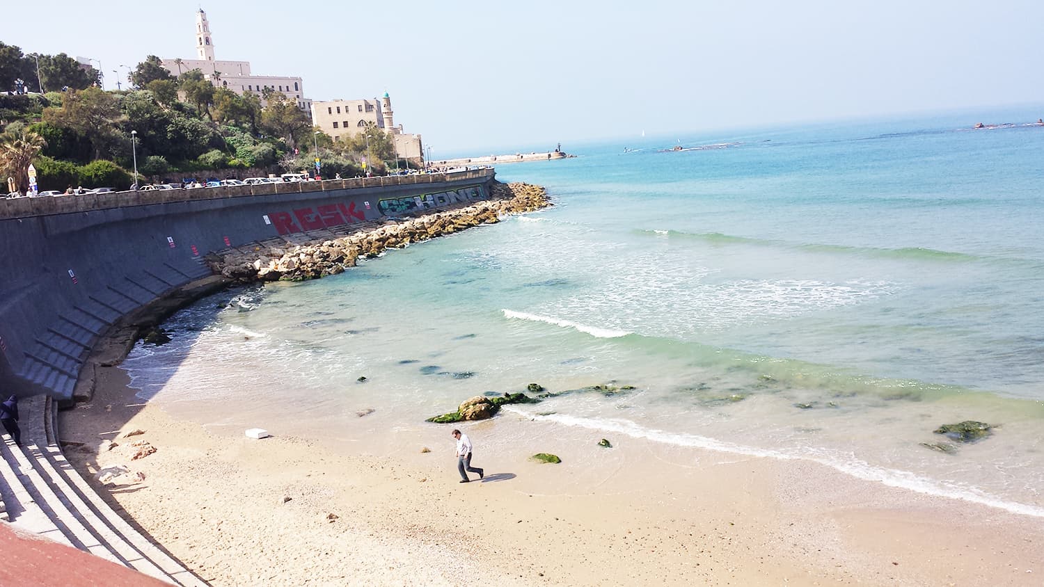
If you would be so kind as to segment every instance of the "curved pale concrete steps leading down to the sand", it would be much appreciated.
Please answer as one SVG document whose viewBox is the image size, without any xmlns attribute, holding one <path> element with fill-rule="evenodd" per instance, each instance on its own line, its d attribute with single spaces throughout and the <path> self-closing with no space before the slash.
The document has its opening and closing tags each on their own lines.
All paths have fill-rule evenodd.
<svg viewBox="0 0 1044 587">
<path fill-rule="evenodd" d="M 22 446 L 0 442 L 0 497 L 9 523 L 173 585 L 205 586 L 121 518 L 62 454 L 50 396 L 24 398 Z"/>
</svg>

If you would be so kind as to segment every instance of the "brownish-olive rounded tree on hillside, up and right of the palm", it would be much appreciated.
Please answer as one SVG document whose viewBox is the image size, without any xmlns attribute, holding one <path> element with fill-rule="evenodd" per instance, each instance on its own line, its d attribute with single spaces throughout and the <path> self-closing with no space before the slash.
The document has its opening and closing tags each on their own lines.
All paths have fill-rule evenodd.
<svg viewBox="0 0 1044 587">
<path fill-rule="evenodd" d="M 44 122 L 70 128 L 87 139 L 94 158 L 101 158 L 106 145 L 118 139 L 121 118 L 113 95 L 97 88 L 70 90 L 62 96 L 62 107 L 44 111 Z"/>
</svg>

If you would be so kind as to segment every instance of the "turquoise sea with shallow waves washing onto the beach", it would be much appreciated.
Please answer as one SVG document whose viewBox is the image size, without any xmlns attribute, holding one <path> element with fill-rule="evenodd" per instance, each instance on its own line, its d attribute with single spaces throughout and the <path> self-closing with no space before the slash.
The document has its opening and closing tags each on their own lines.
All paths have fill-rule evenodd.
<svg viewBox="0 0 1044 587">
<path fill-rule="evenodd" d="M 267 412 L 348 440 L 530 382 L 616 382 L 636 389 L 504 421 L 806 459 L 1044 517 L 1044 127 L 1022 125 L 1039 116 L 567 145 L 579 156 L 497 170 L 554 207 L 200 301 L 124 366 L 208 423 Z M 969 419 L 997 427 L 922 445 Z"/>
</svg>

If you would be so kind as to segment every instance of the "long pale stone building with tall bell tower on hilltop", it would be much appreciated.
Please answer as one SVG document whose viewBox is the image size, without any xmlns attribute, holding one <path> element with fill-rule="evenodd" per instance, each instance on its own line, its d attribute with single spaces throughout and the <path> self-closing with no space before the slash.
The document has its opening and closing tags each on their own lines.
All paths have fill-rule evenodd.
<svg viewBox="0 0 1044 587">
<path fill-rule="evenodd" d="M 163 67 L 172 75 L 181 75 L 197 69 L 217 88 L 228 88 L 236 94 L 252 93 L 260 97 L 265 88 L 282 92 L 298 107 L 311 111 L 311 100 L 305 97 L 304 83 L 300 77 L 281 75 L 254 75 L 250 62 L 219 60 L 214 57 L 214 38 L 207 21 L 207 13 L 199 8 L 196 13 L 194 31 L 196 58 L 163 59 Z"/>
</svg>

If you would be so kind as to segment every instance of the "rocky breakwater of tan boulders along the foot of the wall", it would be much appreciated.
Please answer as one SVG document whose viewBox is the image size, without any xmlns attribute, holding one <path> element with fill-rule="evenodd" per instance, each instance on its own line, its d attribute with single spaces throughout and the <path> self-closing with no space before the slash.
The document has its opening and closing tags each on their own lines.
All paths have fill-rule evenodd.
<svg viewBox="0 0 1044 587">
<path fill-rule="evenodd" d="M 380 226 L 369 226 L 337 239 L 304 245 L 255 246 L 208 256 L 215 273 L 239 282 L 302 282 L 341 273 L 358 258 L 377 256 L 389 248 L 451 235 L 501 218 L 551 205 L 544 188 L 530 184 L 494 182 L 491 198 L 465 207 L 434 212 Z"/>
</svg>

